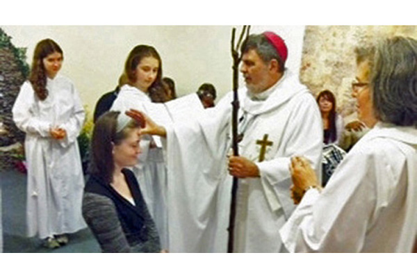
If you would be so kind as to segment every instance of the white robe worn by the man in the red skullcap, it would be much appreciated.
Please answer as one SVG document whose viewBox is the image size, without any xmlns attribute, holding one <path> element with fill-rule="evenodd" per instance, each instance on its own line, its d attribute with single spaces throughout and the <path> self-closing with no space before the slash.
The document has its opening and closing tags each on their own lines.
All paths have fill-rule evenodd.
<svg viewBox="0 0 417 278">
<path fill-rule="evenodd" d="M 266 101 L 239 91 L 240 115 L 252 117 L 240 155 L 257 163 L 261 177 L 240 179 L 235 252 L 279 252 L 279 228 L 293 211 L 288 165 L 309 158 L 320 176 L 322 121 L 316 101 L 297 76 L 286 72 Z M 226 252 L 231 197 L 227 172 L 231 99 L 227 94 L 188 122 L 167 127 L 168 207 L 172 252 Z M 258 163 L 256 140 L 273 142 Z"/>
</svg>

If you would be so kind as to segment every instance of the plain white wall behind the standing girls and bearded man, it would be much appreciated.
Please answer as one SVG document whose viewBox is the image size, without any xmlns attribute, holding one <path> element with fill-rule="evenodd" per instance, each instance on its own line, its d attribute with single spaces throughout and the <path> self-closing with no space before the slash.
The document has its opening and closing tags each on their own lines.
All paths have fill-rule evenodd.
<svg viewBox="0 0 417 278">
<path fill-rule="evenodd" d="M 1 26 L 15 47 L 27 47 L 31 64 L 35 44 L 51 38 L 64 51 L 62 74 L 80 91 L 90 115 L 97 99 L 117 85 L 124 61 L 137 44 L 154 46 L 163 75 L 174 79 L 177 94 L 213 83 L 221 97 L 231 90 L 230 40 L 233 26 Z M 237 34 L 240 26 L 236 26 Z M 288 67 L 298 72 L 304 26 L 252 26 L 251 33 L 275 31 L 288 45 Z M 244 85 L 240 80 L 240 85 Z"/>
</svg>

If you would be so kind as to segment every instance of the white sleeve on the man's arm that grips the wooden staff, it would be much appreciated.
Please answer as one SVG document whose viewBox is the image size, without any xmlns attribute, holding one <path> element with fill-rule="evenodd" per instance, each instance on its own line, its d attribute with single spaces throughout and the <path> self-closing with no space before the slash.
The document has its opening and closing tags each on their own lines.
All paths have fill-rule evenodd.
<svg viewBox="0 0 417 278">
<path fill-rule="evenodd" d="M 290 114 L 281 142 L 284 153 L 277 152 L 274 159 L 256 163 L 263 188 L 274 188 L 281 207 L 288 219 L 295 206 L 290 197 L 292 184 L 289 165 L 291 157 L 305 156 L 321 177 L 322 126 L 320 112 L 311 95 L 303 95 Z M 272 207 L 272 209 L 274 209 Z"/>
</svg>

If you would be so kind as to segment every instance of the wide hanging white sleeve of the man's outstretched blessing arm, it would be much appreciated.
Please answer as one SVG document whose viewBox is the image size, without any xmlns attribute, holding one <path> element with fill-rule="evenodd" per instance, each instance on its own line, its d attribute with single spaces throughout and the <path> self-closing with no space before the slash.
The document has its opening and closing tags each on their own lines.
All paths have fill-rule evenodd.
<svg viewBox="0 0 417 278">
<path fill-rule="evenodd" d="M 215 216 L 218 207 L 223 208 L 216 198 L 227 174 L 224 139 L 229 117 L 217 108 L 213 108 L 217 113 L 206 111 L 196 111 L 199 116 L 186 122 L 165 126 L 172 252 L 216 250 Z"/>
</svg>

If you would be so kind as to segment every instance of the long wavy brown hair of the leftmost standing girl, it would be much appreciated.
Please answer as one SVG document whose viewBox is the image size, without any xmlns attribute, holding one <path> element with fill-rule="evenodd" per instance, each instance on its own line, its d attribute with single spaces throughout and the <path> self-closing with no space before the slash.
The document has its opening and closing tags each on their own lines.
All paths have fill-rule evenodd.
<svg viewBox="0 0 417 278">
<path fill-rule="evenodd" d="M 64 57 L 63 50 L 51 39 L 45 39 L 38 42 L 35 51 L 33 52 L 29 81 L 35 91 L 35 95 L 37 95 L 40 100 L 44 100 L 48 97 L 47 72 L 43 64 L 43 59 L 54 52 L 58 52 Z"/>
</svg>

